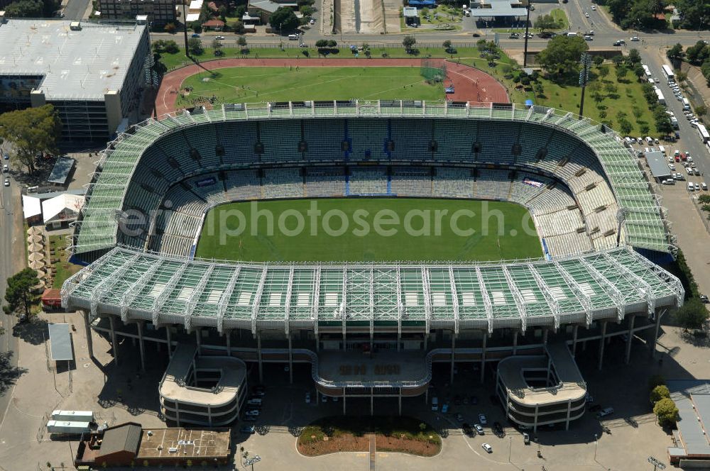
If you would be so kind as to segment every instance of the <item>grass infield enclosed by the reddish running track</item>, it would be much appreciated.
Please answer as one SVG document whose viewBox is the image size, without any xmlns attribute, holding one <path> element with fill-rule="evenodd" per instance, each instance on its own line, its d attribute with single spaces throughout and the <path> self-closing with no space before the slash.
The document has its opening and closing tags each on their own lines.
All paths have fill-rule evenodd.
<svg viewBox="0 0 710 471">
<path fill-rule="evenodd" d="M 182 82 L 193 99 L 217 103 L 293 100 L 444 99 L 441 83 L 427 84 L 420 67 L 228 67 L 200 72 Z"/>
</svg>

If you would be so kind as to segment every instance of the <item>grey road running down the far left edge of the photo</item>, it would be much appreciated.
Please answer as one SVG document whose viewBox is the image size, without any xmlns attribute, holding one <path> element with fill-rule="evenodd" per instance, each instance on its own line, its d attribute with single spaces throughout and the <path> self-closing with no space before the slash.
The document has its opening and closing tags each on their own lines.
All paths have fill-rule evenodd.
<svg viewBox="0 0 710 471">
<path fill-rule="evenodd" d="M 2 160 L 7 163 L 8 160 Z M 3 180 L 6 174 L 3 174 Z M 13 275 L 17 270 L 17 254 L 24 254 L 23 240 L 17 240 L 18 235 L 13 233 L 17 227 L 16 218 L 21 214 L 19 204 L 19 192 L 14 186 L 0 187 L 0 306 L 5 304 L 5 289 L 7 287 L 7 277 Z M 18 365 L 17 338 L 12 335 L 15 317 L 6 316 L 0 313 L 0 323 L 4 329 L 0 333 L 0 353 L 13 352 L 11 366 Z M 12 388 L 4 394 L 0 394 L 0 423 L 5 417 L 5 411 L 12 397 Z"/>
</svg>

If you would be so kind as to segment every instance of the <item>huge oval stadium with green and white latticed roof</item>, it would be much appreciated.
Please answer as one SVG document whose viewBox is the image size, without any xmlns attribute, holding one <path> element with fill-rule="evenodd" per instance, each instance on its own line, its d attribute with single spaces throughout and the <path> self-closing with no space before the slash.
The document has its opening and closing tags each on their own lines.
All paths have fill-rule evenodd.
<svg viewBox="0 0 710 471">
<path fill-rule="evenodd" d="M 525 209 L 536 235 L 515 238 L 506 223 L 486 236 L 499 253 L 481 243 L 438 257 L 395 238 L 391 250 L 408 245 L 402 260 L 322 257 L 328 239 L 245 252 L 271 243 L 258 234 L 202 247 L 222 205 L 359 199 L 395 213 L 413 199 L 495 201 Z M 109 143 L 72 235 L 86 266 L 62 304 L 110 336 L 116 360 L 119 336 L 137 340 L 143 366 L 146 341 L 168 345 L 160 400 L 178 423 L 233 422 L 247 363 L 259 382 L 265 363 L 290 375 L 310 365 L 317 392 L 341 397 L 344 413 L 358 401 L 373 412 L 396 400 L 401 411 L 427 397 L 432 363 L 444 363 L 451 381 L 456 365 L 479 368 L 481 382 L 493 371 L 511 421 L 569 426 L 586 396 L 577 345 L 599 345 L 601 368 L 605 340 L 628 334 L 628 361 L 633 336 L 683 302 L 682 284 L 655 263 L 675 250 L 664 214 L 618 135 L 573 113 L 440 101 L 197 107 Z"/>
</svg>

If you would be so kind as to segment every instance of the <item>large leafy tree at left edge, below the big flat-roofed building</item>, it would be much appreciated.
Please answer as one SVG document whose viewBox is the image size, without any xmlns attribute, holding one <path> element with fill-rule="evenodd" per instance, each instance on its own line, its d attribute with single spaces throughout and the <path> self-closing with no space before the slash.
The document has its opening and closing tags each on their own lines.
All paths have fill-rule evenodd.
<svg viewBox="0 0 710 471">
<path fill-rule="evenodd" d="M 13 160 L 30 173 L 35 171 L 36 155 L 59 152 L 61 133 L 62 121 L 52 105 L 0 114 L 0 138 L 13 144 Z"/>
</svg>

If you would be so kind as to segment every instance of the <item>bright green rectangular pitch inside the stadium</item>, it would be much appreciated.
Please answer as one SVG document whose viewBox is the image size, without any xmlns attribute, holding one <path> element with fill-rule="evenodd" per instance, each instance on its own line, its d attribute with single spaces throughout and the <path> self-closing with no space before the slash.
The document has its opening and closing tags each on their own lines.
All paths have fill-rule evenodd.
<svg viewBox="0 0 710 471">
<path fill-rule="evenodd" d="M 542 256 L 528 210 L 500 201 L 299 199 L 225 204 L 196 257 L 254 262 L 483 261 Z"/>
</svg>

